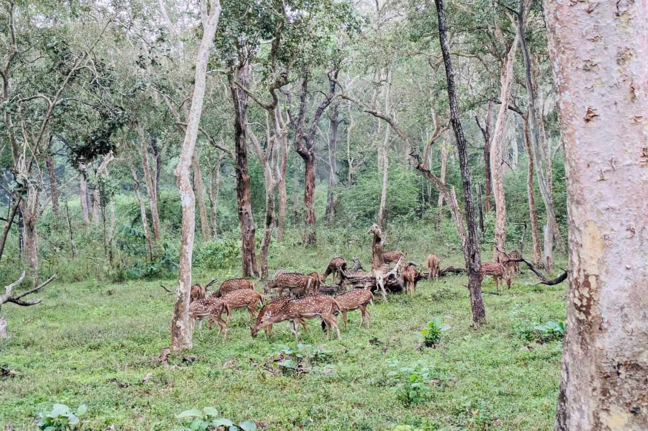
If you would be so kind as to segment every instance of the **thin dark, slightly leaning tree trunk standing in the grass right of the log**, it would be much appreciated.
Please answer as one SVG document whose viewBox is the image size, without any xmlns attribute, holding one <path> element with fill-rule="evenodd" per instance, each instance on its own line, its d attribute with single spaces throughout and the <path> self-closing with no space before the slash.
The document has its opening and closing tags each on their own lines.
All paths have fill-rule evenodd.
<svg viewBox="0 0 648 431">
<path fill-rule="evenodd" d="M 459 166 L 461 167 L 461 182 L 463 184 L 463 195 L 465 198 L 466 221 L 468 225 L 467 242 L 463 247 L 463 253 L 468 270 L 468 290 L 470 292 L 470 308 L 472 309 L 472 324 L 480 327 L 486 322 L 486 311 L 481 298 L 480 281 L 480 245 L 477 236 L 477 225 L 475 223 L 475 209 L 472 204 L 472 185 L 470 184 L 470 166 L 468 160 L 468 144 L 463 135 L 461 121 L 459 120 L 459 105 L 457 94 L 454 88 L 454 71 L 450 62 L 450 50 L 448 49 L 448 36 L 446 35 L 445 11 L 443 0 L 435 0 L 437 16 L 439 17 L 439 43 L 443 54 L 443 63 L 446 69 L 448 81 L 448 100 L 450 102 L 450 122 L 457 140 L 457 152 L 459 153 Z"/>
</svg>

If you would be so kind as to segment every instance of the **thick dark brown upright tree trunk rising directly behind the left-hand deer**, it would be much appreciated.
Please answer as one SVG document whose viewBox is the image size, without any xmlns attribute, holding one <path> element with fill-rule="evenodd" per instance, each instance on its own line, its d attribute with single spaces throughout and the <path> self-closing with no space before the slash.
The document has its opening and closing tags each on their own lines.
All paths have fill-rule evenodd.
<svg viewBox="0 0 648 431">
<path fill-rule="evenodd" d="M 238 221 L 241 232 L 242 274 L 244 277 L 258 277 L 257 252 L 255 245 L 255 227 L 252 218 L 252 204 L 249 189 L 248 147 L 246 127 L 248 126 L 248 94 L 238 87 L 236 81 L 244 88 L 249 86 L 249 63 L 239 63 L 234 76 L 230 76 L 229 89 L 234 102 L 234 142 L 236 155 L 236 188 Z"/>
</svg>

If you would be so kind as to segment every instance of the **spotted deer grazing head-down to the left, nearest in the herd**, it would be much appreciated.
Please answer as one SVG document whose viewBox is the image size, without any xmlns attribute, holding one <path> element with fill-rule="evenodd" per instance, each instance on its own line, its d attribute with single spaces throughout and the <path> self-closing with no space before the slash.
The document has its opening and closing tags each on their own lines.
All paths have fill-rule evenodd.
<svg viewBox="0 0 648 431">
<path fill-rule="evenodd" d="M 333 316 L 333 313 L 335 312 L 340 313 L 340 305 L 338 305 L 332 296 L 311 295 L 290 300 L 278 311 L 266 311 L 260 315 L 260 320 L 258 320 L 257 324 L 255 324 L 251 329 L 252 337 L 256 337 L 260 329 L 263 329 L 270 324 L 283 322 L 284 320 L 292 320 L 295 338 L 299 338 L 299 326 L 297 325 L 299 319 L 312 319 L 319 317 L 327 326 L 327 340 L 330 340 L 331 327 L 334 327 L 336 333 L 338 333 L 339 339 L 341 338 L 340 328 L 338 327 L 338 322 Z"/>
</svg>

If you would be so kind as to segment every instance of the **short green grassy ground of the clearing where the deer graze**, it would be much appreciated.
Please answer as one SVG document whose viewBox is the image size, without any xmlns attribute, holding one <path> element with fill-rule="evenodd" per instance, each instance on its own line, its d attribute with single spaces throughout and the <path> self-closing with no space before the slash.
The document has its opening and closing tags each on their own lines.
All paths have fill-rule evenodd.
<svg viewBox="0 0 648 431">
<path fill-rule="evenodd" d="M 423 252 L 413 254 L 422 261 Z M 308 258 L 323 271 L 331 255 L 296 249 L 288 256 L 273 265 L 306 270 L 299 262 Z M 460 256 L 442 262 L 450 264 L 461 266 Z M 3 307 L 11 337 L 0 342 L 0 364 L 22 376 L 0 377 L 0 428 L 33 429 L 35 415 L 55 402 L 87 404 L 86 428 L 93 430 L 168 430 L 178 425 L 175 414 L 203 406 L 270 430 L 551 428 L 561 342 L 524 341 L 511 324 L 564 319 L 566 285 L 534 287 L 526 271 L 510 291 L 484 295 L 488 324 L 474 331 L 465 283 L 463 276 L 448 276 L 419 283 L 415 296 L 376 300 L 371 328 L 358 329 L 360 316 L 351 313 L 341 340 L 327 341 L 319 322 L 310 320 L 303 357 L 293 358 L 297 371 L 275 362 L 283 349 L 297 347 L 288 324 L 275 326 L 270 340 L 253 340 L 244 311 L 235 314 L 227 342 L 205 327 L 187 352 L 194 362 L 173 357 L 172 366 L 160 366 L 174 298 L 159 281 L 55 283 L 40 305 Z M 490 279 L 483 289 L 494 291 Z M 419 348 L 421 329 L 434 316 L 450 330 L 436 348 Z M 409 374 L 389 373 L 417 363 L 430 369 L 430 393 L 409 404 L 398 387 Z M 149 372 L 152 378 L 141 384 Z"/>
</svg>

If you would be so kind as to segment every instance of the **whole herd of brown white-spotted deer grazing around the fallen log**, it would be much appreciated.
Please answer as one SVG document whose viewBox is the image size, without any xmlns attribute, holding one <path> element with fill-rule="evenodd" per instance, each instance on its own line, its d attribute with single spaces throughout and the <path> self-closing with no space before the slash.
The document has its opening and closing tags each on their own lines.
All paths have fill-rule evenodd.
<svg viewBox="0 0 648 431">
<path fill-rule="evenodd" d="M 397 262 L 404 258 L 400 251 L 385 252 L 382 254 L 386 263 Z M 520 252 L 514 250 L 505 255 L 508 259 L 518 259 L 521 257 Z M 504 260 L 502 260 L 504 261 Z M 251 335 L 253 338 L 261 329 L 264 329 L 266 337 L 272 332 L 272 325 L 289 321 L 292 323 L 292 333 L 299 338 L 299 326 L 303 326 L 304 332 L 307 333 L 305 319 L 319 317 L 322 320 L 322 326 L 326 327 L 327 339 L 330 340 L 330 331 L 333 328 L 340 338 L 340 328 L 336 316 L 341 314 L 344 320 L 345 330 L 347 329 L 347 313 L 349 311 L 359 310 L 362 320 L 360 327 L 365 324 L 369 327 L 371 315 L 367 306 L 373 305 L 373 293 L 371 290 L 351 289 L 335 296 L 321 294 L 320 286 L 332 274 L 333 281 L 336 277 L 343 278 L 354 274 L 358 269 L 362 269 L 360 262 L 354 258 L 354 267 L 349 269 L 347 261 L 340 256 L 332 258 L 329 266 L 323 274 L 311 272 L 302 274 L 300 272 L 277 271 L 275 278 L 267 283 L 264 287 L 264 294 L 272 290 L 277 291 L 277 297 L 270 302 L 264 303 L 264 295 L 255 291 L 255 285 L 252 280 L 246 278 L 234 278 L 226 280 L 220 285 L 217 291 L 207 297 L 205 287 L 200 283 L 191 287 L 191 298 L 189 304 L 189 318 L 192 322 L 199 322 L 202 327 L 202 320 L 209 318 L 209 327 L 213 327 L 214 322 L 218 324 L 218 335 L 224 333 L 227 338 L 227 324 L 231 318 L 232 312 L 239 308 L 247 307 L 250 321 L 256 318 L 254 326 L 251 326 Z M 441 261 L 434 254 L 427 258 L 428 273 L 424 274 L 416 269 L 414 263 L 408 263 L 402 272 L 404 289 L 408 294 L 416 293 L 416 284 L 419 280 L 427 275 L 428 280 L 434 278 L 437 280 L 441 272 Z M 487 275 L 491 275 L 496 288 L 503 281 L 507 282 L 511 288 L 511 274 L 519 272 L 518 262 L 500 263 L 498 261 L 489 261 L 481 263 L 481 280 Z M 287 295 L 283 295 L 288 291 Z M 257 310 L 257 304 L 260 303 L 261 309 Z M 223 313 L 226 318 L 223 319 Z"/>
</svg>

